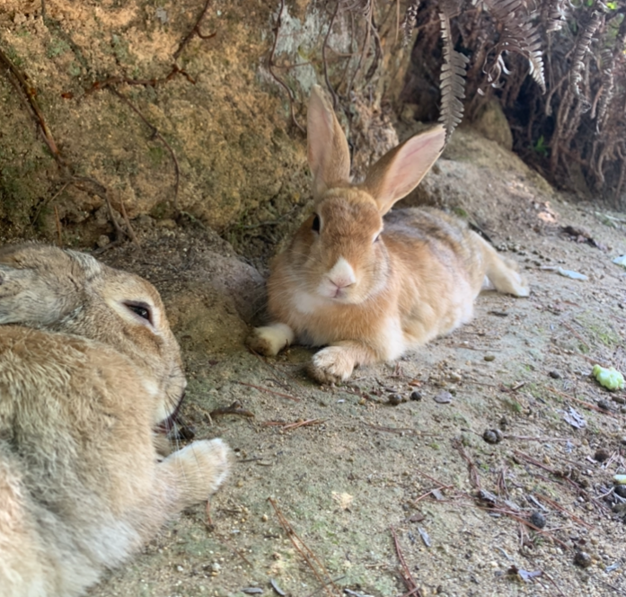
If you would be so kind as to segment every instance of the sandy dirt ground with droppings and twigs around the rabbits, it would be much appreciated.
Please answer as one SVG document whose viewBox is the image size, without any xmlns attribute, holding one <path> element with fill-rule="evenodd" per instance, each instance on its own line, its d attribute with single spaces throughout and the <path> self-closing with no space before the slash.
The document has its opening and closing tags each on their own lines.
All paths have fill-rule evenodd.
<svg viewBox="0 0 626 597">
<path fill-rule="evenodd" d="M 626 393 L 590 378 L 596 362 L 626 370 L 611 263 L 626 216 L 560 197 L 463 130 L 420 192 L 515 258 L 531 297 L 485 292 L 471 325 L 335 388 L 306 378 L 311 350 L 246 351 L 262 278 L 216 235 L 143 218 L 141 251 L 101 255 L 162 292 L 187 431 L 235 461 L 210 519 L 184 512 L 92 597 L 626 594 Z M 253 416 L 210 415 L 234 401 Z"/>
</svg>

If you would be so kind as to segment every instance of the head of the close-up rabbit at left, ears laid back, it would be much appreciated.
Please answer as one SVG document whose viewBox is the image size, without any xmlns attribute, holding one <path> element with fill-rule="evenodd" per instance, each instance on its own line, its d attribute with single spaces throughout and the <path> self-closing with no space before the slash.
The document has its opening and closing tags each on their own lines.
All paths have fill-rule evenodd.
<svg viewBox="0 0 626 597">
<path fill-rule="evenodd" d="M 35 244 L 0 249 L 0 324 L 75 334 L 125 354 L 158 386 L 155 424 L 181 403 L 180 350 L 158 292 L 91 255 Z"/>
</svg>

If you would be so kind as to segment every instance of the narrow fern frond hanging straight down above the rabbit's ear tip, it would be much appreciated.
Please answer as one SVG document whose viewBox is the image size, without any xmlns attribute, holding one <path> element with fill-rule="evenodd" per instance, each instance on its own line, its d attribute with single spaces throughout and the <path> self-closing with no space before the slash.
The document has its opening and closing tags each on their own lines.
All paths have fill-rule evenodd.
<svg viewBox="0 0 626 597">
<path fill-rule="evenodd" d="M 465 97 L 465 67 L 469 59 L 454 50 L 450 19 L 439 13 L 441 38 L 444 41 L 444 64 L 441 67 L 441 115 L 439 122 L 445 128 L 445 141 L 450 138 L 456 126 L 463 119 L 463 98 Z"/>
</svg>

